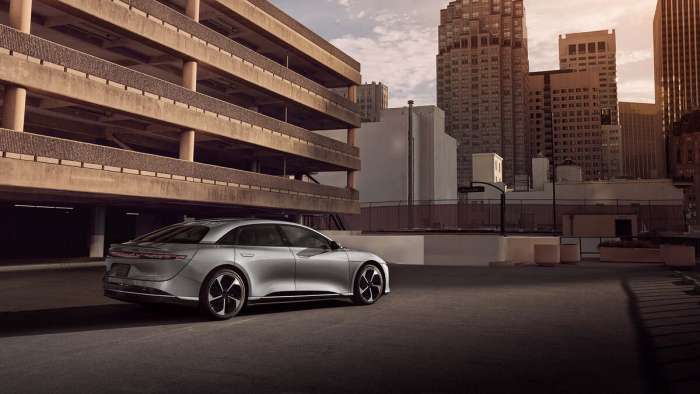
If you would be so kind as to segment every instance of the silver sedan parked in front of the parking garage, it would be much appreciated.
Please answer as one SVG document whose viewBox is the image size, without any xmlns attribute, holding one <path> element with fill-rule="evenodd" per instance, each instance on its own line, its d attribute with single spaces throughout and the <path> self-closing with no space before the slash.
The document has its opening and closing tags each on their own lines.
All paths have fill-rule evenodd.
<svg viewBox="0 0 700 394">
<path fill-rule="evenodd" d="M 389 293 L 389 267 L 298 224 L 203 220 L 112 246 L 103 283 L 110 298 L 194 305 L 221 320 L 253 304 L 373 304 Z"/>
</svg>

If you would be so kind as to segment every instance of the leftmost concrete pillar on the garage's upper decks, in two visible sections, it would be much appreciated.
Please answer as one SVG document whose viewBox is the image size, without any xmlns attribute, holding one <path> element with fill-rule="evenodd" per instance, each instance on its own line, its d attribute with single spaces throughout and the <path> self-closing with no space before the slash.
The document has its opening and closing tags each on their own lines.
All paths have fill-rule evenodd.
<svg viewBox="0 0 700 394">
<path fill-rule="evenodd" d="M 10 0 L 10 26 L 29 34 L 32 25 L 32 0 Z M 27 90 L 20 86 L 5 87 L 2 111 L 2 127 L 24 131 L 24 115 L 27 107 Z"/>
</svg>

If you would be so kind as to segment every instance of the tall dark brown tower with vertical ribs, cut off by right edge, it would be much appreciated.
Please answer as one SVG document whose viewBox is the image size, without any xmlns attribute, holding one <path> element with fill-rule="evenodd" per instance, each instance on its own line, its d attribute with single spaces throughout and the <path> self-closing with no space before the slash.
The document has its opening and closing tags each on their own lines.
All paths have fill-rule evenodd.
<svg viewBox="0 0 700 394">
<path fill-rule="evenodd" d="M 665 135 L 700 108 L 700 3 L 658 0 L 654 15 L 656 104 Z"/>
</svg>

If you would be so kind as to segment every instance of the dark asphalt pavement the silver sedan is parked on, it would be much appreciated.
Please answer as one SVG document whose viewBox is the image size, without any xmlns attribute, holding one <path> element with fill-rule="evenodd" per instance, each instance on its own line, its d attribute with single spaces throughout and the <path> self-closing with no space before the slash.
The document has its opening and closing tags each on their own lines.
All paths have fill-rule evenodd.
<svg viewBox="0 0 700 394">
<path fill-rule="evenodd" d="M 700 332 L 698 296 L 681 294 L 683 329 L 642 308 L 688 290 L 658 266 L 391 273 L 372 306 L 261 306 L 226 322 L 106 299 L 99 269 L 0 273 L 0 392 L 663 392 L 649 327 Z"/>
</svg>

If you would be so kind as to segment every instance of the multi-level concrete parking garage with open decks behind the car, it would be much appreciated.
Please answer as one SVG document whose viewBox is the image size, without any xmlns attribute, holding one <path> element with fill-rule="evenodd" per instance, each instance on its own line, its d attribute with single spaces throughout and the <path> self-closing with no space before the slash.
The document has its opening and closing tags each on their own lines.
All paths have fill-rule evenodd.
<svg viewBox="0 0 700 394">
<path fill-rule="evenodd" d="M 101 257 L 183 216 L 358 214 L 361 80 L 266 0 L 0 0 L 0 256 Z M 303 181 L 322 171 L 345 184 Z"/>
</svg>

